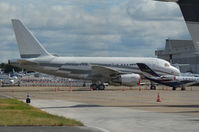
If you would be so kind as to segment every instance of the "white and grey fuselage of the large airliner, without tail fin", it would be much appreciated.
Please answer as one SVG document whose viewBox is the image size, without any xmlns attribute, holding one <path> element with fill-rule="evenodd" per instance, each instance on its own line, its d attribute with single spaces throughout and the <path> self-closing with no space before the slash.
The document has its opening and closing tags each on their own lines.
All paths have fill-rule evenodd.
<svg viewBox="0 0 199 132">
<path fill-rule="evenodd" d="M 160 75 L 177 73 L 174 70 L 163 68 L 166 61 L 157 58 L 146 57 L 39 57 L 26 59 L 33 62 L 31 64 L 21 64 L 20 66 L 42 73 L 84 80 L 103 80 L 103 77 L 96 75 L 92 66 L 103 66 L 115 69 L 121 73 L 142 74 L 136 63 L 145 63 Z M 172 67 L 172 66 L 170 66 Z"/>
</svg>

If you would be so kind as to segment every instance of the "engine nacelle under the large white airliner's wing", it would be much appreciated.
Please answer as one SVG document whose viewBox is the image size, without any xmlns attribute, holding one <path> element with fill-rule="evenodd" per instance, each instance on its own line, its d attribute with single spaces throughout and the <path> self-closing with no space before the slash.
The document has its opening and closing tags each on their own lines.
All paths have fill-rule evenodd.
<svg viewBox="0 0 199 132">
<path fill-rule="evenodd" d="M 141 76 L 139 74 L 123 74 L 112 78 L 112 82 L 125 86 L 140 85 Z"/>
</svg>

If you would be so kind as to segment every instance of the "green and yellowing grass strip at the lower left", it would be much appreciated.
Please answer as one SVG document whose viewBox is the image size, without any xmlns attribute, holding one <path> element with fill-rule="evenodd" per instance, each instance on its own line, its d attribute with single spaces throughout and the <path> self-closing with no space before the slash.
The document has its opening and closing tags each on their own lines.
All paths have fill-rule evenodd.
<svg viewBox="0 0 199 132">
<path fill-rule="evenodd" d="M 0 126 L 83 126 L 79 121 L 51 115 L 16 99 L 0 99 Z"/>
</svg>

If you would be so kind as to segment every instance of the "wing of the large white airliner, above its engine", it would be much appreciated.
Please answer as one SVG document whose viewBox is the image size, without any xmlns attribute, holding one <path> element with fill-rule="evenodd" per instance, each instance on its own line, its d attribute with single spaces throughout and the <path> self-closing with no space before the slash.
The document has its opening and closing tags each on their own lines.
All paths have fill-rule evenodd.
<svg viewBox="0 0 199 132">
<path fill-rule="evenodd" d="M 110 67 L 96 66 L 96 65 L 91 66 L 91 67 L 94 71 L 94 74 L 102 75 L 108 78 L 113 75 L 121 74 L 121 72 L 119 72 L 118 70 L 110 68 Z"/>
</svg>

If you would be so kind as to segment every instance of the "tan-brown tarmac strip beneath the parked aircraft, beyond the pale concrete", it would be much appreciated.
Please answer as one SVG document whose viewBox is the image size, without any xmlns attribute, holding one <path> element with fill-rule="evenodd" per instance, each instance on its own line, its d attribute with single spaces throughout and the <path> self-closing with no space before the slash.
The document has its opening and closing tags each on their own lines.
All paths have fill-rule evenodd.
<svg viewBox="0 0 199 132">
<path fill-rule="evenodd" d="M 199 118 L 199 87 L 187 88 L 187 91 L 172 91 L 170 88 L 158 87 L 158 90 L 149 90 L 147 87 L 125 88 L 107 87 L 105 91 L 89 91 L 88 88 L 69 87 L 3 87 L 0 95 L 14 97 L 20 100 L 53 99 L 95 104 L 100 106 L 124 107 L 144 111 L 175 113 Z M 57 89 L 57 90 L 56 90 Z M 160 93 L 161 103 L 157 103 L 157 94 Z"/>
</svg>

